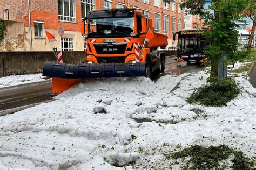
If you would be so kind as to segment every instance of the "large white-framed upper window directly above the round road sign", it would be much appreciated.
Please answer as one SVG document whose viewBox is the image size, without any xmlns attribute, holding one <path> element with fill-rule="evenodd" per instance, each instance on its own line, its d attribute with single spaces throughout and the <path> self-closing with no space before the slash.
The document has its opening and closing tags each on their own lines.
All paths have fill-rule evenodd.
<svg viewBox="0 0 256 170">
<path fill-rule="evenodd" d="M 75 0 L 58 0 L 59 20 L 75 22 Z"/>
</svg>

